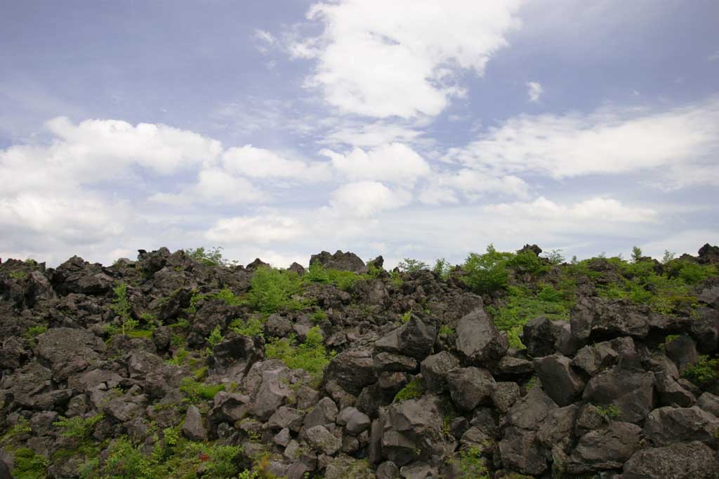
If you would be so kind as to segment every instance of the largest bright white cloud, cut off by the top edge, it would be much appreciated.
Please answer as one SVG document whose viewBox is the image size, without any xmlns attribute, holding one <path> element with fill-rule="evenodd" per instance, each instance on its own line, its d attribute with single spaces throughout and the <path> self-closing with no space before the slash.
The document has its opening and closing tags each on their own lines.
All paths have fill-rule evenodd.
<svg viewBox="0 0 719 479">
<path fill-rule="evenodd" d="M 344 113 L 365 116 L 435 116 L 462 96 L 457 69 L 482 75 L 518 27 L 521 1 L 344 0 L 318 2 L 319 37 L 292 45 L 296 57 L 314 58 L 307 84 Z"/>
</svg>

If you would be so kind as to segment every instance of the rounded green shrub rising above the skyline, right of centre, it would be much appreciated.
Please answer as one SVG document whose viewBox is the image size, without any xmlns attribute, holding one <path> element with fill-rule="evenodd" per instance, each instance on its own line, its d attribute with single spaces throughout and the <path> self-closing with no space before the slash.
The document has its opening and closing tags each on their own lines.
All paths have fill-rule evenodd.
<svg viewBox="0 0 719 479">
<path fill-rule="evenodd" d="M 485 254 L 470 253 L 462 265 L 462 281 L 472 291 L 480 294 L 491 294 L 505 289 L 509 280 L 507 262 L 512 256 L 514 255 L 511 253 L 500 253 L 493 245 L 487 246 Z"/>
</svg>

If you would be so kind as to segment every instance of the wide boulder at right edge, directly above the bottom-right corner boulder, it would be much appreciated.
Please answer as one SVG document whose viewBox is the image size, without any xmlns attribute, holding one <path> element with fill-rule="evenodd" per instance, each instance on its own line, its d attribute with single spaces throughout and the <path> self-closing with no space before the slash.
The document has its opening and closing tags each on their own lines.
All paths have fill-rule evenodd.
<svg viewBox="0 0 719 479">
<path fill-rule="evenodd" d="M 718 432 L 719 418 L 697 406 L 660 407 L 651 411 L 644 422 L 644 435 L 656 447 L 695 441 L 716 447 Z"/>
</svg>

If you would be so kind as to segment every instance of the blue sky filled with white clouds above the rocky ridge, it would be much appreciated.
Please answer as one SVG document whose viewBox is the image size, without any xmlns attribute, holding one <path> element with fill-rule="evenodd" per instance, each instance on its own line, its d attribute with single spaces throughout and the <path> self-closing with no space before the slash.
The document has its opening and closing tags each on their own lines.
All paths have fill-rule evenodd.
<svg viewBox="0 0 719 479">
<path fill-rule="evenodd" d="M 0 258 L 719 243 L 713 0 L 0 0 Z"/>
</svg>

